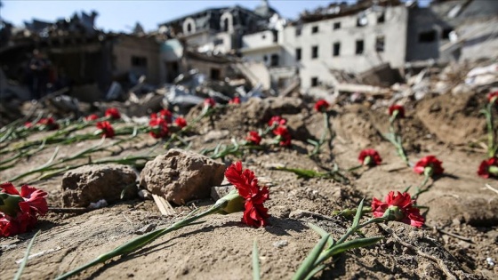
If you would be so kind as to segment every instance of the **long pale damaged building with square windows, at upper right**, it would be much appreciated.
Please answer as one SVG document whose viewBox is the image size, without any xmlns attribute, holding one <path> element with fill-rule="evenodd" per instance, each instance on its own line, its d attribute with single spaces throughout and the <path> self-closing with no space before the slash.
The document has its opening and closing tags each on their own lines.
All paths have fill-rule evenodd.
<svg viewBox="0 0 498 280">
<path fill-rule="evenodd" d="M 301 90 L 334 87 L 336 70 L 403 71 L 421 60 L 496 56 L 497 14 L 498 2 L 486 0 L 438 0 L 424 8 L 398 0 L 330 4 L 303 12 L 285 28 L 243 36 L 240 52 L 269 68 L 275 89 L 295 84 L 296 76 Z"/>
</svg>

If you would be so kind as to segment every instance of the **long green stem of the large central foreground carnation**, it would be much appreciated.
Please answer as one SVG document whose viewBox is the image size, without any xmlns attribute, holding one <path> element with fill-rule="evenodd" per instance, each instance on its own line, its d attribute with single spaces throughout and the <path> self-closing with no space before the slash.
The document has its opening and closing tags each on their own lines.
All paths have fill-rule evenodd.
<svg viewBox="0 0 498 280">
<path fill-rule="evenodd" d="M 69 276 L 74 276 L 77 273 L 84 271 L 84 269 L 91 268 L 91 267 L 93 267 L 101 262 L 105 262 L 106 260 L 110 260 L 114 257 L 123 255 L 125 253 L 137 251 L 141 247 L 155 241 L 157 238 L 159 238 L 161 236 L 165 236 L 166 234 L 168 234 L 174 230 L 193 225 L 193 224 L 195 224 L 194 222 L 196 220 L 204 218 L 205 216 L 208 216 L 208 215 L 216 213 L 216 212 L 220 212 L 225 206 L 227 206 L 229 204 L 230 200 L 236 199 L 237 197 L 238 197 L 237 193 L 230 192 L 229 195 L 224 196 L 221 199 L 219 199 L 215 204 L 213 204 L 213 206 L 211 206 L 211 208 L 209 208 L 205 212 L 199 213 L 197 215 L 189 214 L 183 220 L 175 222 L 172 226 L 170 226 L 168 228 L 160 228 L 160 229 L 152 231 L 146 235 L 138 236 L 138 237 L 128 241 L 127 243 L 116 247 L 114 250 L 112 250 L 110 252 L 101 254 L 95 260 L 92 260 L 89 263 L 84 264 L 83 266 L 81 266 L 79 268 L 71 270 L 68 273 L 57 277 L 56 280 L 67 279 Z M 196 211 L 194 211 L 194 212 L 196 212 Z"/>
</svg>

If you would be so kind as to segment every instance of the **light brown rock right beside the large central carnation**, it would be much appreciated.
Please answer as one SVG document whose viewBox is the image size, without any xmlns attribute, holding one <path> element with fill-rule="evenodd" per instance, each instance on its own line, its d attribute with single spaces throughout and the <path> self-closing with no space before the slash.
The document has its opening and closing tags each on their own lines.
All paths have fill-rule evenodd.
<svg viewBox="0 0 498 280">
<path fill-rule="evenodd" d="M 197 153 L 170 149 L 145 164 L 140 184 L 174 204 L 208 198 L 211 187 L 223 180 L 225 165 Z"/>
</svg>

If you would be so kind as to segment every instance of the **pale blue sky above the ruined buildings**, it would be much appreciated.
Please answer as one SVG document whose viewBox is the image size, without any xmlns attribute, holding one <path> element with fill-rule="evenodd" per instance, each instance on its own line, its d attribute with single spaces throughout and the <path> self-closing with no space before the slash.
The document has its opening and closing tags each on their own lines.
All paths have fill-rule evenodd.
<svg viewBox="0 0 498 280">
<path fill-rule="evenodd" d="M 136 22 L 146 31 L 157 29 L 159 23 L 174 20 L 206 8 L 240 5 L 253 10 L 261 0 L 0 0 L 0 17 L 15 26 L 31 19 L 55 21 L 68 18 L 75 12 L 92 10 L 99 13 L 95 21 L 97 28 L 105 31 L 130 32 Z M 430 0 L 420 0 L 427 4 Z M 313 10 L 318 6 L 337 2 L 336 0 L 269 0 L 270 6 L 288 19 L 296 19 L 300 12 Z M 356 0 L 339 2 L 355 3 Z"/>
</svg>

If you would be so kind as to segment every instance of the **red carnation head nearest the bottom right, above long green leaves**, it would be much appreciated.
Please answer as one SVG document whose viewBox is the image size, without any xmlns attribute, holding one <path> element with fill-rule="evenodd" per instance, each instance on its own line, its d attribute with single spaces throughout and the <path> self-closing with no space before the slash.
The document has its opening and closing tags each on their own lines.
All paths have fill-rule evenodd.
<svg viewBox="0 0 498 280">
<path fill-rule="evenodd" d="M 386 196 L 386 202 L 382 202 L 374 197 L 372 201 L 372 211 L 375 218 L 386 218 L 387 220 L 398 220 L 408 225 L 420 228 L 424 219 L 420 214 L 420 209 L 414 207 L 414 200 L 408 193 L 394 194 L 394 191 Z"/>
</svg>

